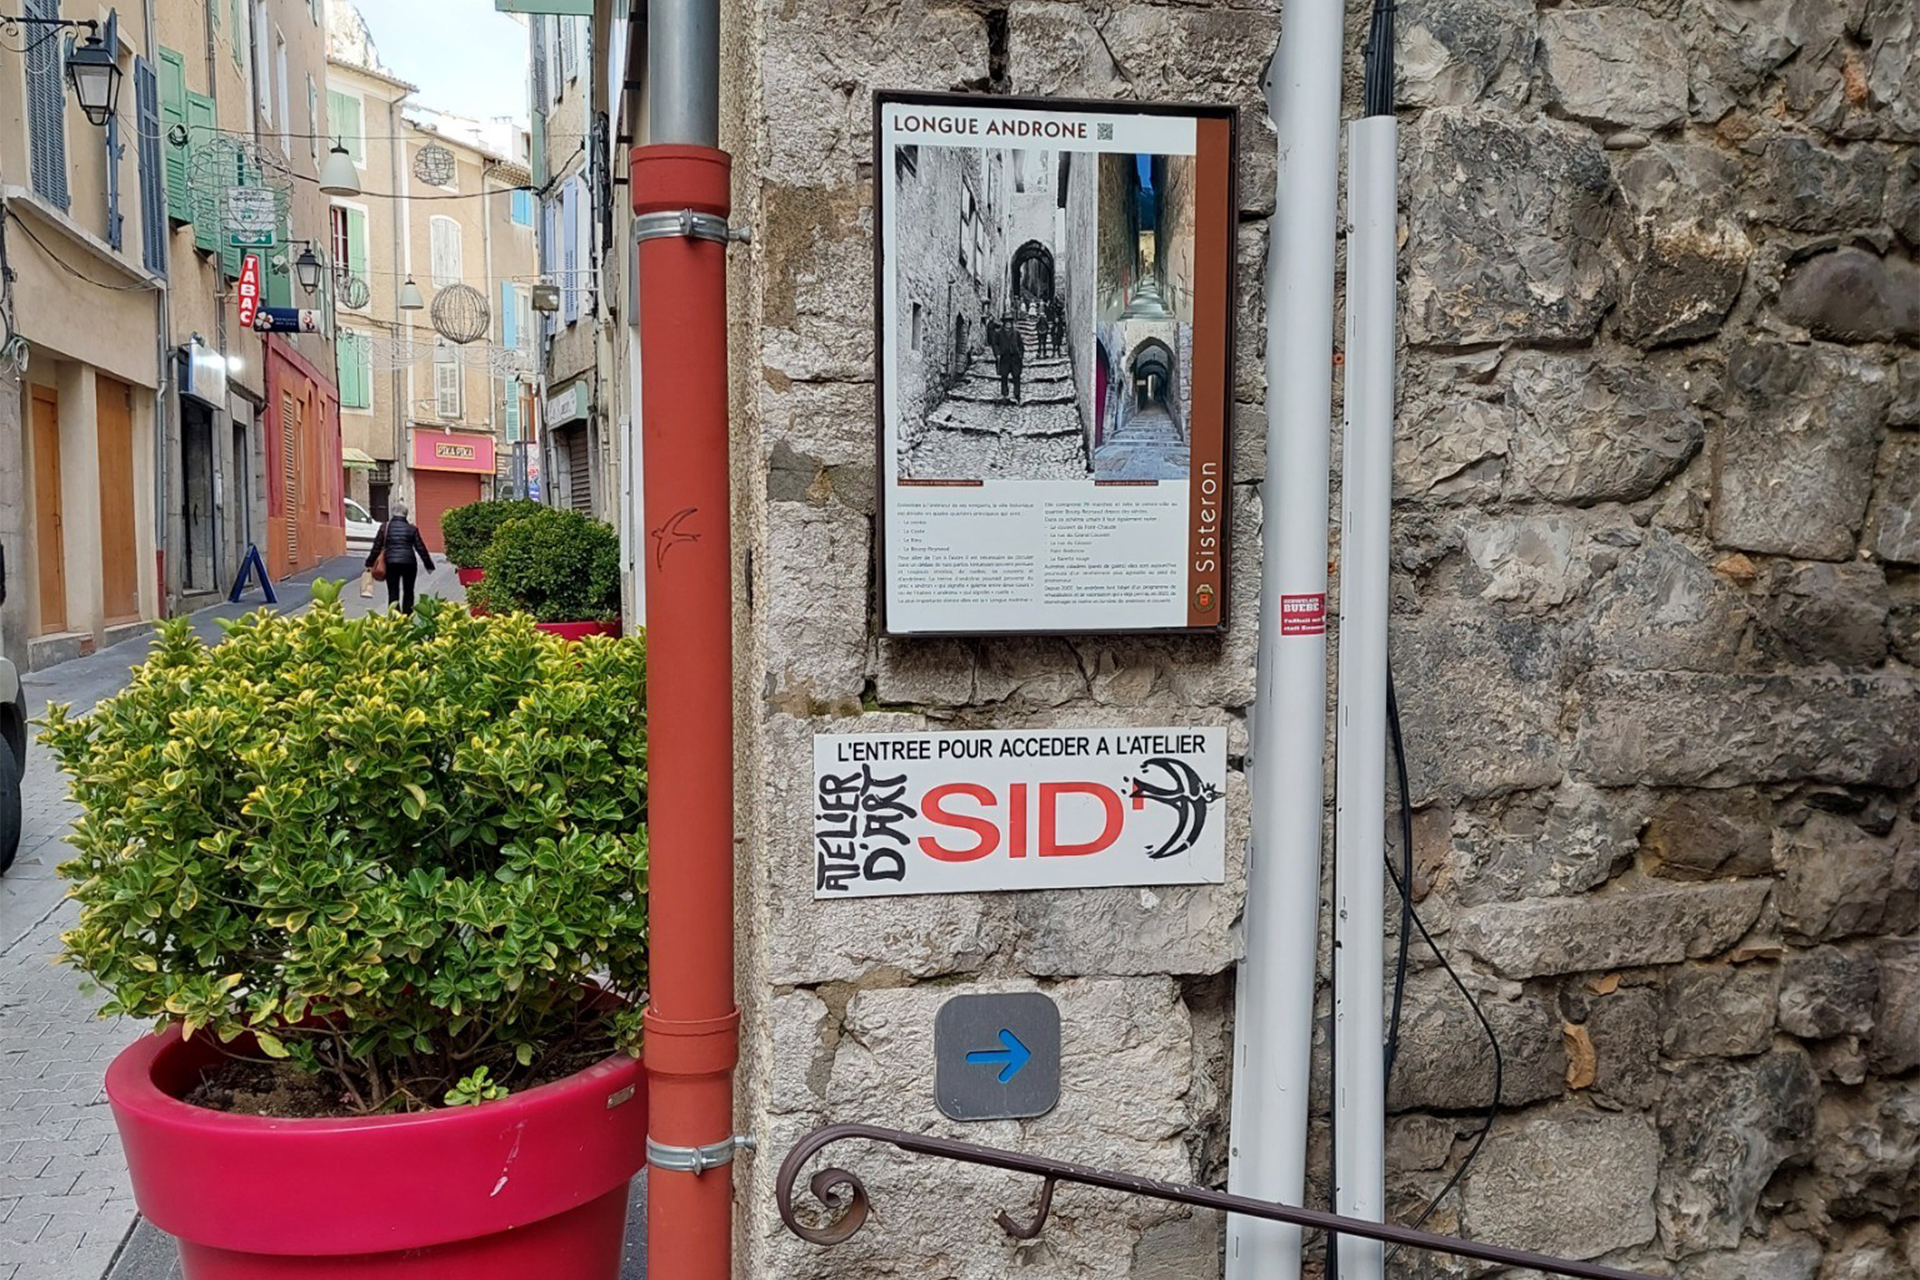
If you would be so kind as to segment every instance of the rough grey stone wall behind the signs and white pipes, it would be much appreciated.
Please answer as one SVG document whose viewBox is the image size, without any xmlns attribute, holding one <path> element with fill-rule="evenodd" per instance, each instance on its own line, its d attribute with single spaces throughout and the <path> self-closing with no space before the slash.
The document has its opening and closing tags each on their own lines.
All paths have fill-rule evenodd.
<svg viewBox="0 0 1920 1280">
<path fill-rule="evenodd" d="M 762 0 L 728 23 L 756 230 L 732 280 L 741 1115 L 762 1142 L 739 1274 L 1217 1274 L 1217 1222 L 1150 1203 L 1066 1192 L 1018 1245 L 991 1215 L 1025 1211 L 1021 1180 L 849 1150 L 876 1219 L 822 1251 L 783 1232 L 772 1184 L 828 1119 L 1225 1176 L 1236 858 L 1221 889 L 822 908 L 806 791 L 818 731 L 1221 723 L 1244 752 L 1279 0 Z M 1912 1280 L 1910 0 L 1405 0 L 1402 36 L 1392 651 L 1415 887 L 1505 1057 L 1500 1121 L 1430 1226 L 1697 1280 Z M 874 88 L 1242 107 L 1223 641 L 876 637 Z M 1231 806 L 1244 823 L 1238 771 Z M 1457 1169 L 1492 1082 L 1476 1019 L 1413 958 L 1402 1215 Z M 933 1009 L 1031 986 L 1062 1007 L 1062 1107 L 939 1119 Z"/>
</svg>

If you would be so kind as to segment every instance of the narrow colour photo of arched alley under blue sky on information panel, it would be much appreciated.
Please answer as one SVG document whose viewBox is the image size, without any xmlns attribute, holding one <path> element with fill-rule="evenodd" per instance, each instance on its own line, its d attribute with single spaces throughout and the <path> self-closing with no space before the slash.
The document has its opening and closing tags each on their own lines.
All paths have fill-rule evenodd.
<svg viewBox="0 0 1920 1280">
<path fill-rule="evenodd" d="M 1185 480 L 1192 445 L 1194 161 L 1100 157 L 1094 480 Z"/>
</svg>

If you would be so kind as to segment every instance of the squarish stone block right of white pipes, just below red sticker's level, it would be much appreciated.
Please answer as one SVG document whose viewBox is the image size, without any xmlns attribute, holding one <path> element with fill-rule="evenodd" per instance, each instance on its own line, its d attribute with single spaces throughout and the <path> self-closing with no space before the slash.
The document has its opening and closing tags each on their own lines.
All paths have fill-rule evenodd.
<svg viewBox="0 0 1920 1280">
<path fill-rule="evenodd" d="M 1427 612 L 1390 643 L 1415 804 L 1559 781 L 1565 643 L 1551 624 Z"/>
</svg>

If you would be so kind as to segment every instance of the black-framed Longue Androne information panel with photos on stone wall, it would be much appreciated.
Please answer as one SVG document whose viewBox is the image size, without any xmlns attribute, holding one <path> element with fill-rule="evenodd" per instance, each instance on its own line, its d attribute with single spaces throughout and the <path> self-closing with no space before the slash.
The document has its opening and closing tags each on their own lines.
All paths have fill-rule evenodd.
<svg viewBox="0 0 1920 1280">
<path fill-rule="evenodd" d="M 887 635 L 1219 631 L 1233 107 L 874 96 Z"/>
</svg>

